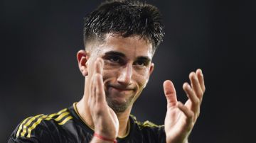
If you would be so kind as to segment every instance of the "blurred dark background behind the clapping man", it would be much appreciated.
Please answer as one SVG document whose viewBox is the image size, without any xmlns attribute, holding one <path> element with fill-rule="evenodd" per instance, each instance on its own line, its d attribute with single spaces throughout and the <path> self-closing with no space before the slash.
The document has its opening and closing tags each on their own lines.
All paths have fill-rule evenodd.
<svg viewBox="0 0 256 143">
<path fill-rule="evenodd" d="M 100 2 L 0 2 L 0 142 L 7 142 L 24 118 L 55 113 L 82 98 L 84 78 L 75 55 L 83 49 L 83 17 Z M 161 10 L 166 36 L 132 114 L 164 124 L 162 83 L 174 81 L 184 102 L 182 84 L 201 68 L 206 93 L 190 142 L 253 142 L 256 1 L 148 2 Z"/>
</svg>

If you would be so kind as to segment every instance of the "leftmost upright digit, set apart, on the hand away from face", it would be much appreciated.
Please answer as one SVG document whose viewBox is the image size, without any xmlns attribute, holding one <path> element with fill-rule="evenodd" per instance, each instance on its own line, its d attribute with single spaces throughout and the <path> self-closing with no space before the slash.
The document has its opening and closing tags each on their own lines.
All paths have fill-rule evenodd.
<svg viewBox="0 0 256 143">
<path fill-rule="evenodd" d="M 164 81 L 163 86 L 164 86 L 164 95 L 166 96 L 166 100 L 167 100 L 167 107 L 175 106 L 177 103 L 177 96 L 176 96 L 174 84 L 171 81 L 166 80 Z"/>
</svg>

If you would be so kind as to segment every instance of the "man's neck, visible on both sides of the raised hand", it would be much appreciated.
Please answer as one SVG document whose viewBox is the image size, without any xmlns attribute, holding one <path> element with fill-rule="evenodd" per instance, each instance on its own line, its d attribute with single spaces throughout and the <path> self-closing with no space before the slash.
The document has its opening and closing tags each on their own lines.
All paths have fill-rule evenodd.
<svg viewBox="0 0 256 143">
<path fill-rule="evenodd" d="M 86 95 L 86 94 L 85 94 Z M 94 130 L 94 124 L 92 121 L 92 115 L 87 105 L 87 96 L 83 96 L 83 98 L 77 103 L 78 113 L 80 117 L 85 122 L 87 126 L 89 126 L 92 130 Z M 131 109 L 127 108 L 123 113 L 117 113 L 117 118 L 119 120 L 119 131 L 118 137 L 125 137 L 129 133 L 129 115 L 131 113 Z"/>
</svg>

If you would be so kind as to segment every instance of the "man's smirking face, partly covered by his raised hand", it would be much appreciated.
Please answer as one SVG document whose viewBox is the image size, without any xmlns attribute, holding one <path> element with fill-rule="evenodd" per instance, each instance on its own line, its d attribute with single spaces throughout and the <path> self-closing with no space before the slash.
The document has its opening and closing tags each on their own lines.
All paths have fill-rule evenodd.
<svg viewBox="0 0 256 143">
<path fill-rule="evenodd" d="M 152 45 L 139 36 L 122 38 L 107 34 L 105 42 L 90 51 L 87 79 L 93 62 L 101 57 L 107 103 L 116 113 L 122 113 L 132 107 L 146 86 L 154 69 L 152 56 Z"/>
</svg>

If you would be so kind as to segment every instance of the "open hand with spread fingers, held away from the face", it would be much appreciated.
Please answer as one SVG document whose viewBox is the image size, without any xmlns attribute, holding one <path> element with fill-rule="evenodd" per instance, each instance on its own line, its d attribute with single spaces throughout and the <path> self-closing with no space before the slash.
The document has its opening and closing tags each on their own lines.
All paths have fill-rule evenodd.
<svg viewBox="0 0 256 143">
<path fill-rule="evenodd" d="M 166 142 L 186 143 L 200 113 L 203 93 L 206 91 L 201 69 L 189 74 L 191 85 L 183 84 L 188 96 L 185 104 L 177 101 L 174 84 L 164 81 L 164 94 L 167 99 L 167 113 L 164 121 Z"/>
</svg>

